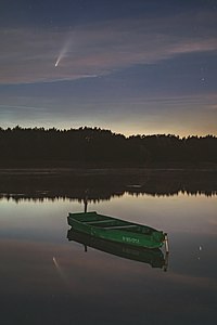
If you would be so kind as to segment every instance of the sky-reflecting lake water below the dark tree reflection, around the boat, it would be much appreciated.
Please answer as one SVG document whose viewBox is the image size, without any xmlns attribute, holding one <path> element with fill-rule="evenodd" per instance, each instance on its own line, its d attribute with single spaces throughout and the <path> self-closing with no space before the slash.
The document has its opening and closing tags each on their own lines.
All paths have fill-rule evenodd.
<svg viewBox="0 0 217 325">
<path fill-rule="evenodd" d="M 215 324 L 216 195 L 89 202 L 167 232 L 166 272 L 68 240 L 67 213 L 82 210 L 78 199 L 0 199 L 1 324 Z"/>
</svg>

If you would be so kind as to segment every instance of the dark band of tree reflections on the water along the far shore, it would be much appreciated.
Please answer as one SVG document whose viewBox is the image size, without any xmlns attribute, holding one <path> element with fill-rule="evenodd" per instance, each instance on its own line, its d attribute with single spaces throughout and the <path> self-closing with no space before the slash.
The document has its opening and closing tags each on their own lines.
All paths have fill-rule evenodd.
<svg viewBox="0 0 217 325">
<path fill-rule="evenodd" d="M 92 202 L 108 200 L 125 193 L 130 195 L 170 196 L 217 194 L 216 172 L 192 170 L 23 170 L 1 172 L 0 198 L 15 199 L 78 199 L 86 190 Z"/>
</svg>

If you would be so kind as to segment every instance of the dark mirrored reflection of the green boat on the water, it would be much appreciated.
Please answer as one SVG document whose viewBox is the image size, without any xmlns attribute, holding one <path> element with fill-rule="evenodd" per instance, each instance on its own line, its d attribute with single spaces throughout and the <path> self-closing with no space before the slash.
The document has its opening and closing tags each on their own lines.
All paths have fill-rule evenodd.
<svg viewBox="0 0 217 325">
<path fill-rule="evenodd" d="M 79 244 L 95 248 L 101 251 L 105 251 L 122 258 L 126 258 L 133 261 L 140 261 L 150 264 L 152 268 L 167 268 L 167 255 L 164 253 L 159 248 L 149 249 L 142 247 L 135 247 L 128 244 L 119 244 L 111 240 L 105 240 L 77 232 L 71 229 L 67 233 L 68 240 L 74 240 Z"/>
</svg>

